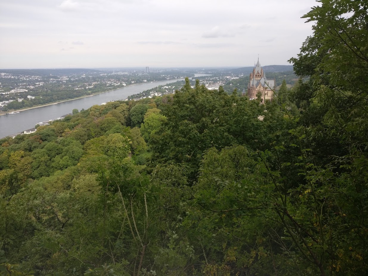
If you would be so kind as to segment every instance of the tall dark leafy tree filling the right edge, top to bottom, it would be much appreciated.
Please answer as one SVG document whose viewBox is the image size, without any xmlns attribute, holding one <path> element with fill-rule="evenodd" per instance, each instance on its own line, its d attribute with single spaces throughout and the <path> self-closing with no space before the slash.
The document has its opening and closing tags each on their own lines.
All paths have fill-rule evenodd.
<svg viewBox="0 0 368 276">
<path fill-rule="evenodd" d="M 298 57 L 290 60 L 301 78 L 293 97 L 308 101 L 292 131 L 297 147 L 304 151 L 301 174 L 308 183 L 305 194 L 310 194 L 301 199 L 318 218 L 311 243 L 321 275 L 364 274 L 368 255 L 361 245 L 367 243 L 367 236 L 351 235 L 348 229 L 367 228 L 367 222 L 358 218 L 368 204 L 367 187 L 360 184 L 368 180 L 368 3 L 321 3 L 304 16 L 315 22 L 314 33 Z"/>
</svg>

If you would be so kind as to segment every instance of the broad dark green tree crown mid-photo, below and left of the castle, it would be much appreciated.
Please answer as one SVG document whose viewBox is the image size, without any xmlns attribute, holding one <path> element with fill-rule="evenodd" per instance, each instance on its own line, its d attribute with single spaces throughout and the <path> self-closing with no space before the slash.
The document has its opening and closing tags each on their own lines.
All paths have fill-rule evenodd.
<svg viewBox="0 0 368 276">
<path fill-rule="evenodd" d="M 163 108 L 166 120 L 159 130 L 151 132 L 149 146 L 156 162 L 184 163 L 191 167 L 190 181 L 195 180 L 202 154 L 209 148 L 223 148 L 231 144 L 268 146 L 272 134 L 268 124 L 258 116 L 272 117 L 265 106 L 235 94 L 229 96 L 220 87 L 209 91 L 197 82 L 191 88 L 189 79 Z M 147 117 L 148 118 L 148 117 Z M 282 120 L 278 115 L 275 121 Z M 144 127 L 145 131 L 145 127 Z"/>
</svg>

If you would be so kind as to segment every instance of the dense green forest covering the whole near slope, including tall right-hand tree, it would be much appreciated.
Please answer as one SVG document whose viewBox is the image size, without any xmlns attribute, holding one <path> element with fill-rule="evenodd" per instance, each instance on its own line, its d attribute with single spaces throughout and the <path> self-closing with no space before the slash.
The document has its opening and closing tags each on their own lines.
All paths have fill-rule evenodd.
<svg viewBox="0 0 368 276">
<path fill-rule="evenodd" d="M 367 10 L 313 7 L 264 105 L 186 79 L 0 139 L 0 275 L 368 275 Z"/>
</svg>

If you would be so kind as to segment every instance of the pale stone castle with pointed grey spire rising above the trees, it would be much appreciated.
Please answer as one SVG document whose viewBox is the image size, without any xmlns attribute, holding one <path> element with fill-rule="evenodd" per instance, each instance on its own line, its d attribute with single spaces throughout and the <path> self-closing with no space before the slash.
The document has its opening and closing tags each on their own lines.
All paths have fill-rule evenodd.
<svg viewBox="0 0 368 276">
<path fill-rule="evenodd" d="M 263 72 L 263 68 L 259 64 L 259 58 L 253 72 L 250 73 L 249 79 L 247 96 L 250 100 L 256 99 L 257 95 L 261 96 L 261 103 L 273 99 L 272 90 L 275 89 L 275 79 L 266 78 L 266 72 Z M 243 96 L 245 96 L 245 89 L 243 90 Z"/>
</svg>

